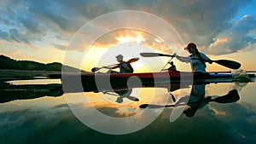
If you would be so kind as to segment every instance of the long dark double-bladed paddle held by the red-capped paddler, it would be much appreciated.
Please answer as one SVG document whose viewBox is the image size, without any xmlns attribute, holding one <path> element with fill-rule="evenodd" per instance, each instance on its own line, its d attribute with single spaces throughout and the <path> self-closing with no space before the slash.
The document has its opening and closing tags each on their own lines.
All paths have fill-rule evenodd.
<svg viewBox="0 0 256 144">
<path fill-rule="evenodd" d="M 143 57 L 155 57 L 155 56 L 168 56 L 168 57 L 174 57 L 174 55 L 165 55 L 160 53 L 141 53 Z M 193 60 L 200 60 L 200 59 L 193 59 Z M 218 65 L 229 67 L 231 69 L 238 69 L 241 67 L 241 64 L 239 62 L 236 62 L 234 60 L 211 60 L 207 62 L 215 62 Z"/>
</svg>

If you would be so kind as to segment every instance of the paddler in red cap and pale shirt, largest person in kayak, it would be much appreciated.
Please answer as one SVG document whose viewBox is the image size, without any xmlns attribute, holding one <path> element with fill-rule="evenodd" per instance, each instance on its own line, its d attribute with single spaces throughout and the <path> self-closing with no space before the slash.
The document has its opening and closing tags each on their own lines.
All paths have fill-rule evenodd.
<svg viewBox="0 0 256 144">
<path fill-rule="evenodd" d="M 206 62 L 212 64 L 212 60 L 208 58 L 207 55 L 199 52 L 196 48 L 195 43 L 189 43 L 184 49 L 187 50 L 191 55 L 183 57 L 174 54 L 177 60 L 180 60 L 182 62 L 190 62 L 193 72 L 200 72 L 202 75 L 207 77 L 208 73 L 206 71 Z"/>
</svg>

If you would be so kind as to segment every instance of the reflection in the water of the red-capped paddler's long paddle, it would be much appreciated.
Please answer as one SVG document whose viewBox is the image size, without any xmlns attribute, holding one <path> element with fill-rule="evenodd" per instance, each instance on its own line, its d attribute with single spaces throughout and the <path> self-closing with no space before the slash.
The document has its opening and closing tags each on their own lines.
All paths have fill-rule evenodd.
<svg viewBox="0 0 256 144">
<path fill-rule="evenodd" d="M 210 97 L 209 97 L 210 98 Z M 240 99 L 240 96 L 237 92 L 236 89 L 231 90 L 227 95 L 219 96 L 215 99 L 209 99 L 208 97 L 205 99 L 205 101 L 215 101 L 218 103 L 231 103 L 231 102 L 236 102 Z M 204 102 L 204 101 L 201 101 Z M 161 106 L 161 105 L 154 105 L 154 104 L 143 104 L 139 106 L 140 108 L 160 108 L 160 107 L 174 107 L 175 104 L 172 105 L 166 105 L 166 106 Z"/>
</svg>

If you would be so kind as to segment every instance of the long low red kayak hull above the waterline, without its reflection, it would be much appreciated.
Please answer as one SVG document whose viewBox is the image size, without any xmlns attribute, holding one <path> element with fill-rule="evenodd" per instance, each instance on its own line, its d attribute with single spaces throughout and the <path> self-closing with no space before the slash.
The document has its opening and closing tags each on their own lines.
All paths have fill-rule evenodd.
<svg viewBox="0 0 256 144">
<path fill-rule="evenodd" d="M 125 81 L 128 78 L 137 77 L 143 82 L 152 82 L 157 80 L 181 80 L 181 78 L 193 78 L 196 79 L 209 79 L 209 78 L 233 78 L 231 72 L 210 72 L 204 74 L 201 72 L 179 72 L 175 70 L 169 70 L 166 72 L 144 72 L 144 73 L 62 73 L 62 74 L 49 74 L 49 78 L 75 78 L 80 77 L 83 81 L 94 82 L 96 79 L 110 78 L 112 82 Z M 247 74 L 248 78 L 254 78 L 254 74 Z"/>
</svg>

